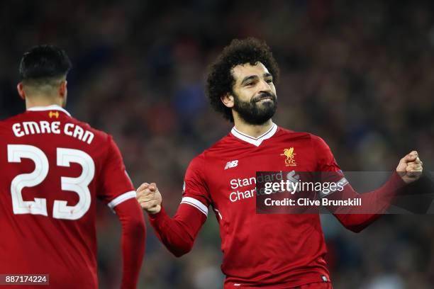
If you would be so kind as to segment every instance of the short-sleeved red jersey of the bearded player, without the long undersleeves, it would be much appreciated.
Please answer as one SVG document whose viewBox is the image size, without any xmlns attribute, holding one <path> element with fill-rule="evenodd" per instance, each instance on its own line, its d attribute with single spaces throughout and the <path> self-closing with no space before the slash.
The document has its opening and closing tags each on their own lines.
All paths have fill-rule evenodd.
<svg viewBox="0 0 434 289">
<path fill-rule="evenodd" d="M 291 149 L 288 162 L 285 149 Z M 225 287 L 288 288 L 330 280 L 318 214 L 257 214 L 257 171 L 338 171 L 320 137 L 273 125 L 261 137 L 233 130 L 196 157 L 187 169 L 182 204 L 204 215 L 208 205 L 220 225 Z M 232 287 L 228 287 L 232 288 Z"/>
</svg>

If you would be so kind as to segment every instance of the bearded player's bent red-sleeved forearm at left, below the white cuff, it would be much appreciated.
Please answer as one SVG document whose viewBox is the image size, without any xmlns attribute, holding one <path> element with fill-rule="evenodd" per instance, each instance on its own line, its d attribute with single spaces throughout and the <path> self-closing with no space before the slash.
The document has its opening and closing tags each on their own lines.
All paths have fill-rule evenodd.
<svg viewBox="0 0 434 289">
<path fill-rule="evenodd" d="M 150 224 L 158 239 L 174 256 L 187 254 L 206 220 L 206 216 L 191 205 L 181 204 L 173 218 L 162 206 L 157 214 L 149 214 Z"/>
</svg>

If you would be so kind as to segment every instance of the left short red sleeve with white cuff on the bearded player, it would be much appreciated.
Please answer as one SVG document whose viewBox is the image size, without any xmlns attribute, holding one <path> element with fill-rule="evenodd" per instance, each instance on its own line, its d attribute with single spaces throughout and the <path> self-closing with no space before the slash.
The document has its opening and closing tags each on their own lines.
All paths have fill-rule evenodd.
<svg viewBox="0 0 434 289">
<path fill-rule="evenodd" d="M 191 205 L 208 215 L 211 198 L 204 178 L 204 167 L 203 154 L 190 162 L 184 177 L 181 203 Z"/>
</svg>

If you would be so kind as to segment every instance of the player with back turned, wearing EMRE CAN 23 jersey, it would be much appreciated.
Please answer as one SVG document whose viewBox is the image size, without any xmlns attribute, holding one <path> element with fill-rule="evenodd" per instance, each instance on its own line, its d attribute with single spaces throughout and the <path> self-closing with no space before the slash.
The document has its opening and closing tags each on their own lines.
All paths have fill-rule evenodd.
<svg viewBox="0 0 434 289">
<path fill-rule="evenodd" d="M 121 288 L 135 288 L 143 212 L 113 138 L 63 108 L 70 68 L 66 53 L 50 45 L 21 59 L 17 88 L 26 112 L 0 122 L 0 274 L 48 274 L 48 288 L 98 288 L 100 198 L 122 225 Z"/>
</svg>

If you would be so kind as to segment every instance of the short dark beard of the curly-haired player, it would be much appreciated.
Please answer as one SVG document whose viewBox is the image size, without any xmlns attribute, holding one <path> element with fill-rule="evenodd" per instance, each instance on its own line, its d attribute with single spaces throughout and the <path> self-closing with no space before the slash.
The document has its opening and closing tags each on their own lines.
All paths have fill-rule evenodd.
<svg viewBox="0 0 434 289">
<path fill-rule="evenodd" d="M 233 110 L 240 115 L 245 123 L 250 125 L 263 125 L 276 113 L 277 97 L 272 92 L 262 92 L 262 94 L 252 97 L 250 101 L 240 101 L 234 92 L 233 96 Z M 271 97 L 272 101 L 260 104 L 258 101 L 265 97 Z"/>
</svg>

